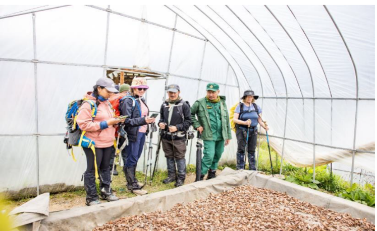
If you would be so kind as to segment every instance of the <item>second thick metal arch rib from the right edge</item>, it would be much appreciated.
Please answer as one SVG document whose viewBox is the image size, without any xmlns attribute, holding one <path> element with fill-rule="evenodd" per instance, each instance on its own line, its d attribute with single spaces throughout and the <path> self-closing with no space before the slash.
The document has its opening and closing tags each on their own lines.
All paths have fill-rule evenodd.
<svg viewBox="0 0 377 231">
<path fill-rule="evenodd" d="M 288 37 L 291 39 L 292 43 L 295 45 L 297 51 L 300 53 L 301 55 L 301 58 L 303 59 L 303 61 L 305 62 L 305 65 L 306 67 L 308 68 L 308 71 L 309 71 L 309 75 L 310 75 L 310 80 L 311 80 L 311 87 L 312 87 L 312 91 L 313 91 L 313 143 L 315 143 L 315 92 L 314 92 L 314 82 L 313 82 L 313 76 L 311 74 L 311 70 L 309 68 L 309 65 L 308 63 L 306 62 L 306 59 L 304 58 L 304 56 L 302 55 L 300 49 L 298 48 L 298 46 L 296 45 L 295 41 L 293 40 L 293 38 L 291 37 L 291 35 L 288 33 L 288 31 L 285 29 L 285 27 L 283 26 L 283 24 L 279 21 L 279 19 L 275 16 L 275 14 L 270 10 L 270 8 L 268 8 L 266 5 L 264 6 L 268 12 L 271 13 L 271 15 L 275 18 L 275 20 L 279 23 L 279 25 L 283 28 L 283 30 L 285 31 L 285 33 L 288 35 Z M 282 160 L 283 160 L 283 157 L 282 157 Z M 282 168 L 282 166 L 281 166 Z M 313 145 L 313 182 L 315 181 L 315 145 Z"/>
</svg>

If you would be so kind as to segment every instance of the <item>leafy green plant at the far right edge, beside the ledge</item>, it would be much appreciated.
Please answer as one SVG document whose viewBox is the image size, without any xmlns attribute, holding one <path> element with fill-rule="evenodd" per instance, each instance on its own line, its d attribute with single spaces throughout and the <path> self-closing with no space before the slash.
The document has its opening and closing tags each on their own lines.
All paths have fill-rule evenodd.
<svg viewBox="0 0 377 231">
<path fill-rule="evenodd" d="M 367 184 L 366 187 L 371 188 L 370 184 Z M 374 196 L 370 195 L 367 191 L 360 189 L 356 183 L 353 183 L 352 186 L 338 195 L 341 198 L 346 200 L 355 201 L 361 204 L 365 204 L 370 207 L 374 207 Z"/>
</svg>

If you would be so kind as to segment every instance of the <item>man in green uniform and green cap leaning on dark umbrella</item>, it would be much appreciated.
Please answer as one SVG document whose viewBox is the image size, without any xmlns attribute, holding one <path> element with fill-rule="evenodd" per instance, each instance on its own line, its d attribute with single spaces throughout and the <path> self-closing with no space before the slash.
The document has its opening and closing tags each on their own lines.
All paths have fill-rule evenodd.
<svg viewBox="0 0 377 231">
<path fill-rule="evenodd" d="M 232 138 L 225 96 L 219 96 L 219 93 L 219 85 L 210 83 L 207 96 L 195 101 L 191 107 L 192 126 L 200 132 L 204 142 L 201 180 L 207 172 L 207 180 L 216 177 L 224 146 Z"/>
</svg>

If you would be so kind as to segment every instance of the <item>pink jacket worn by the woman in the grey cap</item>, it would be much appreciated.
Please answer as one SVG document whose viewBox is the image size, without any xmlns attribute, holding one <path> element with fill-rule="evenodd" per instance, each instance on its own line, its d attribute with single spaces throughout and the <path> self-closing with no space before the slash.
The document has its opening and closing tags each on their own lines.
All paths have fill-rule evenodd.
<svg viewBox="0 0 377 231">
<path fill-rule="evenodd" d="M 95 97 L 88 92 L 84 97 L 93 100 Z M 100 122 L 114 118 L 114 110 L 110 107 L 109 101 L 100 102 L 97 107 L 97 115 L 92 120 L 91 106 L 89 103 L 83 103 L 79 109 L 76 122 L 80 129 L 86 131 L 85 135 L 95 142 L 95 147 L 111 147 L 114 145 L 115 127 L 109 126 L 101 130 Z"/>
</svg>

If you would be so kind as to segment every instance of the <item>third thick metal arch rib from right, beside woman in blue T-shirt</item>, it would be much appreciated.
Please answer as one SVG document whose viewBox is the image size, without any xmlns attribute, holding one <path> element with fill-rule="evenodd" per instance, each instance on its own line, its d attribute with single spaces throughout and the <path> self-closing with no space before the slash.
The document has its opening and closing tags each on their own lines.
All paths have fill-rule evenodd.
<svg viewBox="0 0 377 231">
<path fill-rule="evenodd" d="M 280 74 L 282 75 L 282 78 L 283 78 L 283 82 L 284 82 L 284 87 L 285 87 L 285 93 L 286 93 L 286 109 L 285 109 L 285 120 L 284 120 L 284 134 L 283 136 L 286 137 L 286 125 L 287 125 L 287 115 L 288 115 L 288 89 L 287 89 L 287 84 L 286 84 L 286 81 L 285 81 L 285 78 L 284 78 L 284 74 L 283 74 L 283 71 L 281 70 L 280 66 L 278 65 L 278 63 L 276 62 L 276 60 L 274 59 L 274 57 L 272 56 L 272 54 L 267 50 L 267 48 L 263 45 L 263 43 L 257 38 L 257 36 L 251 31 L 251 29 L 246 25 L 246 23 L 229 7 L 229 6 L 226 6 L 235 16 L 236 18 L 249 30 L 249 32 L 255 37 L 255 39 L 260 43 L 260 45 L 264 48 L 264 50 L 267 52 L 268 55 L 270 55 L 271 59 L 274 61 L 275 65 L 278 67 L 279 71 L 280 71 Z M 245 41 L 246 42 L 246 41 Z M 264 66 L 264 65 L 263 65 Z M 272 80 L 271 80 L 272 82 Z M 263 98 L 264 99 L 264 98 Z M 278 102 L 278 100 L 277 100 Z M 263 106 L 263 100 L 262 100 L 262 106 Z M 258 137 L 258 140 L 259 140 L 259 137 Z M 283 140 L 283 147 L 282 147 L 282 162 L 283 162 L 283 155 L 284 155 L 284 144 L 285 144 L 285 140 Z M 258 146 L 259 148 L 259 146 Z M 258 154 L 257 154 L 257 157 L 256 159 L 258 160 L 259 158 L 259 149 L 258 149 Z M 282 166 L 283 163 L 281 163 L 280 166 Z M 256 170 L 258 170 L 258 162 L 257 162 L 257 165 L 256 165 Z M 280 169 L 280 174 L 282 174 L 282 168 Z"/>
</svg>

